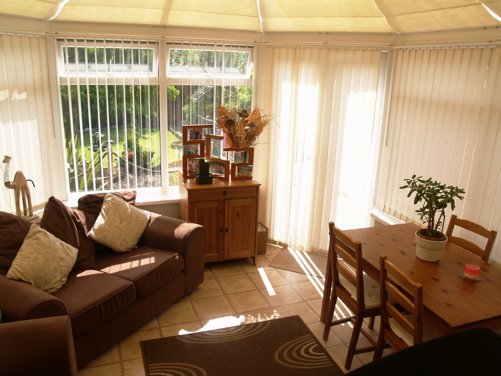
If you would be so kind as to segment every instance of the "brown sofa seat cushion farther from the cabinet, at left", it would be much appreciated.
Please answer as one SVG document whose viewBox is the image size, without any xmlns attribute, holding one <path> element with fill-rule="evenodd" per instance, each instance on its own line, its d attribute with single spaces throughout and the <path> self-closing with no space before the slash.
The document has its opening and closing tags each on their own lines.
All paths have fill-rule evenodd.
<svg viewBox="0 0 501 376">
<path fill-rule="evenodd" d="M 130 306 L 136 290 L 126 279 L 86 270 L 71 272 L 66 284 L 53 296 L 64 303 L 73 336 L 78 337 Z"/>
</svg>

